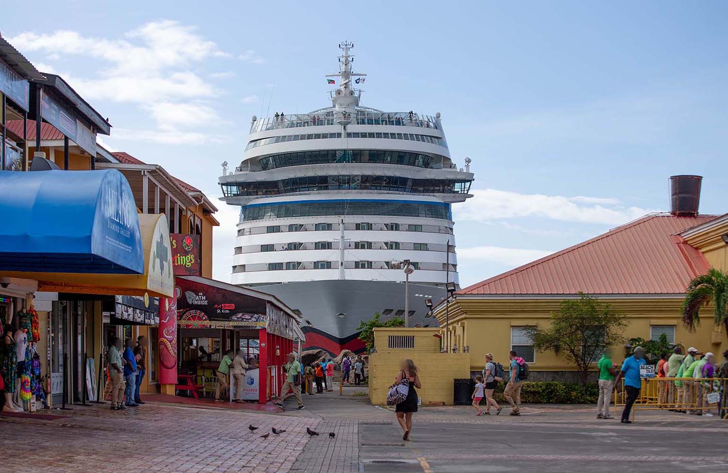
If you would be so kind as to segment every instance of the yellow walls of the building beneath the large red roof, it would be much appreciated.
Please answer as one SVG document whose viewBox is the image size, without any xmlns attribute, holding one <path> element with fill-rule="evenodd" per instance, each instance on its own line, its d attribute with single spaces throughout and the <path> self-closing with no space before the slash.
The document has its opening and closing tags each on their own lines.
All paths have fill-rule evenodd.
<svg viewBox="0 0 728 473">
<path fill-rule="evenodd" d="M 650 326 L 670 325 L 675 327 L 675 342 L 684 346 L 695 346 L 700 351 L 720 353 L 728 348 L 728 341 L 722 327 L 712 323 L 712 309 L 703 309 L 703 323 L 695 332 L 689 332 L 680 319 L 681 298 L 664 299 L 606 299 L 616 309 L 628 317 L 628 327 L 624 330 L 625 341 L 628 338 L 650 338 Z M 450 304 L 449 326 L 453 340 L 458 342 L 459 351 L 464 343 L 469 348 L 470 370 L 480 371 L 485 365 L 485 354 L 494 354 L 496 361 L 507 365 L 508 352 L 511 349 L 511 327 L 536 325 L 547 327 L 550 314 L 558 310 L 559 299 L 459 299 Z M 444 310 L 435 314 L 445 330 Z M 464 341 L 464 342 L 463 342 Z M 615 362 L 625 358 L 625 346 L 612 347 Z M 518 349 L 516 349 L 518 351 Z M 537 352 L 533 363 L 529 363 L 531 371 L 563 373 L 575 370 L 574 366 L 563 356 L 554 351 Z M 537 375 L 539 378 L 545 376 Z M 563 374 L 554 374 L 553 378 L 563 378 Z"/>
</svg>

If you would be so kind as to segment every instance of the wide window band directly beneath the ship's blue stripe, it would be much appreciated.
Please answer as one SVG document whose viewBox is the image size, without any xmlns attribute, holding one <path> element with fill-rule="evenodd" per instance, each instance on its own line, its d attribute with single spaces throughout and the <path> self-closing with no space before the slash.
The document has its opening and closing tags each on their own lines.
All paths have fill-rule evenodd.
<svg viewBox="0 0 728 473">
<path fill-rule="evenodd" d="M 400 217 L 440 218 L 452 220 L 450 204 L 443 202 L 381 201 L 381 200 L 324 200 L 316 202 L 276 202 L 250 204 L 242 207 L 240 221 L 266 220 L 271 218 L 314 217 L 318 215 L 389 215 Z M 317 224 L 317 230 L 320 224 Z M 331 223 L 325 223 L 331 230 Z M 413 226 L 410 225 L 410 228 Z M 416 227 L 416 226 L 415 226 Z M 268 227 L 272 228 L 272 227 Z M 277 226 L 280 231 L 280 226 Z M 422 225 L 419 230 L 422 231 Z M 268 231 L 267 233 L 272 233 Z"/>
</svg>

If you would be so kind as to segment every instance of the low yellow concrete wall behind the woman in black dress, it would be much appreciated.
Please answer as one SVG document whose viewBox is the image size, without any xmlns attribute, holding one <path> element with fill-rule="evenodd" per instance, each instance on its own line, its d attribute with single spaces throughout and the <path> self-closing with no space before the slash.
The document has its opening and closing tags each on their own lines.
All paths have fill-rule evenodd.
<svg viewBox="0 0 728 473">
<path fill-rule="evenodd" d="M 372 404 L 387 404 L 389 386 L 399 373 L 400 362 L 410 358 L 419 368 L 422 389 L 417 394 L 422 405 L 430 402 L 453 403 L 453 380 L 470 378 L 467 354 L 440 353 L 437 328 L 374 329 L 376 352 L 369 356 L 369 399 Z M 414 349 L 387 349 L 388 335 L 414 335 Z"/>
</svg>

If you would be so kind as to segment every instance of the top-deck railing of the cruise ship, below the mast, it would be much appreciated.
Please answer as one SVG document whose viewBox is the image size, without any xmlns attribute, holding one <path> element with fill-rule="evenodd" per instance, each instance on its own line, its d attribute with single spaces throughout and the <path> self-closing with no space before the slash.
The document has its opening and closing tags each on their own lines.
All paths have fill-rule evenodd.
<svg viewBox="0 0 728 473">
<path fill-rule="evenodd" d="M 278 130 L 281 128 L 322 127 L 336 124 L 333 111 L 320 114 L 282 114 L 257 119 L 250 125 L 250 132 Z M 436 116 L 414 112 L 365 112 L 357 111 L 352 124 L 394 125 L 402 127 L 421 127 L 440 130 L 440 119 Z"/>
</svg>

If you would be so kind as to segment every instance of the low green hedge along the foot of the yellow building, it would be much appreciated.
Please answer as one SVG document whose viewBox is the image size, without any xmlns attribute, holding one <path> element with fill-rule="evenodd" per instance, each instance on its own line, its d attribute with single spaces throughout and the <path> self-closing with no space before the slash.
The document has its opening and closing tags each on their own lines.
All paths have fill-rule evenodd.
<svg viewBox="0 0 728 473">
<path fill-rule="evenodd" d="M 499 383 L 494 397 L 505 402 L 503 389 Z M 599 397 L 597 383 L 562 383 L 561 381 L 524 381 L 521 387 L 521 402 L 527 404 L 596 404 Z"/>
</svg>

